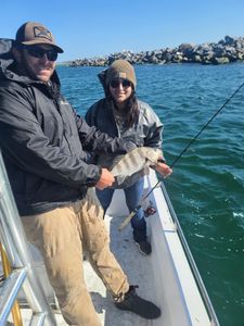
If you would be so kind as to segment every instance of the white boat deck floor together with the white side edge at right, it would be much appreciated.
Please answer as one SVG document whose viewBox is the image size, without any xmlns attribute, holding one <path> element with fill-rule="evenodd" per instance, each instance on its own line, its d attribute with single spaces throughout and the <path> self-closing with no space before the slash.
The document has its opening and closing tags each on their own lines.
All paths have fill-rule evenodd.
<svg viewBox="0 0 244 326">
<path fill-rule="evenodd" d="M 145 193 L 156 184 L 155 173 L 145 183 Z M 157 187 L 150 196 L 150 200 L 157 208 L 156 214 L 146 218 L 149 239 L 152 254 L 142 255 L 132 239 L 132 229 L 127 225 L 121 231 L 118 226 L 128 216 L 125 196 L 121 190 L 115 192 L 113 202 L 105 216 L 105 223 L 111 234 L 111 249 L 126 272 L 129 283 L 138 285 L 139 296 L 156 303 L 162 309 L 162 316 L 154 321 L 146 321 L 131 312 L 118 310 L 106 291 L 103 283 L 85 260 L 85 278 L 91 293 L 94 308 L 104 326 L 213 326 L 200 293 L 192 269 L 179 239 L 177 225 L 171 215 L 171 208 L 167 193 Z M 33 248 L 34 249 L 34 248 Z M 33 250 L 31 250 L 33 251 Z M 50 304 L 55 303 L 43 263 L 34 250 L 35 269 Z M 86 253 L 85 253 L 86 256 Z M 28 313 L 28 314 L 27 314 Z M 55 314 L 57 325 L 65 326 L 62 315 Z M 28 325 L 30 314 L 25 310 L 24 325 Z"/>
</svg>

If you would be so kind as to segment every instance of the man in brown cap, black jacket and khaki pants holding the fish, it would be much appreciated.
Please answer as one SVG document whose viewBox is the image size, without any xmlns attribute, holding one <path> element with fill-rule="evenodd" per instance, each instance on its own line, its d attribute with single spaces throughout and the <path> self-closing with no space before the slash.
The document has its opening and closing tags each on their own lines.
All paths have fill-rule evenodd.
<svg viewBox="0 0 244 326">
<path fill-rule="evenodd" d="M 27 238 L 41 252 L 68 325 L 101 325 L 84 280 L 82 247 L 118 309 L 145 318 L 160 310 L 140 298 L 110 251 L 92 187 L 114 183 L 87 152 L 125 153 L 129 143 L 89 127 L 60 92 L 63 50 L 41 24 L 22 25 L 0 49 L 0 146 Z M 86 152 L 87 151 L 87 152 Z"/>
</svg>

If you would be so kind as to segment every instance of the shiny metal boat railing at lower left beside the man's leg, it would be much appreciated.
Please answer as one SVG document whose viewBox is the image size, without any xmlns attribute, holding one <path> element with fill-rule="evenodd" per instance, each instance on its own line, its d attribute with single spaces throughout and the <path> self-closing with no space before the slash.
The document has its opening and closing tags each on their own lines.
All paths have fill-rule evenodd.
<svg viewBox="0 0 244 326">
<path fill-rule="evenodd" d="M 35 275 L 35 268 L 27 246 L 26 236 L 17 213 L 0 151 L 0 242 L 11 265 L 11 273 L 0 287 L 0 326 L 13 309 L 22 288 L 33 310 L 29 325 L 56 325 L 44 291 Z"/>
</svg>

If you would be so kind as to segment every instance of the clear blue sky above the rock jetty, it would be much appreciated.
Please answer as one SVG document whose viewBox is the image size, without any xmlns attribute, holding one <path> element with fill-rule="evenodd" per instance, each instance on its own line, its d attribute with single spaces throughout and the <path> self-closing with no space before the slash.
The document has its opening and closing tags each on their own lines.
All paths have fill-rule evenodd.
<svg viewBox="0 0 244 326">
<path fill-rule="evenodd" d="M 244 0 L 2 0 L 0 37 L 40 22 L 64 49 L 59 61 L 244 37 Z"/>
</svg>

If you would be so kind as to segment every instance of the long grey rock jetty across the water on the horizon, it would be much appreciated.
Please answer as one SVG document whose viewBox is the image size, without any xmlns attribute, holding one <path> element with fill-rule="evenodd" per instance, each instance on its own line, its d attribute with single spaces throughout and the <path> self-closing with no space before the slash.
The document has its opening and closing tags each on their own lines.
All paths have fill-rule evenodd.
<svg viewBox="0 0 244 326">
<path fill-rule="evenodd" d="M 226 36 L 217 43 L 182 43 L 172 49 L 164 48 L 138 53 L 123 51 L 99 58 L 79 59 L 66 64 L 69 66 L 107 66 L 117 59 L 126 59 L 131 64 L 231 63 L 244 60 L 244 38 Z"/>
</svg>

